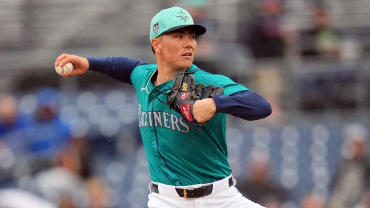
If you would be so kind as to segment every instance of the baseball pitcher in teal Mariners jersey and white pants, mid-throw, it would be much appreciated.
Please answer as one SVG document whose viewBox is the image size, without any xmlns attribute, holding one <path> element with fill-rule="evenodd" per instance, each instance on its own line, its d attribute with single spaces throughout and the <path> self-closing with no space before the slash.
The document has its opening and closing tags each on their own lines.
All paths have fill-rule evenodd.
<svg viewBox="0 0 370 208">
<path fill-rule="evenodd" d="M 134 86 L 139 128 L 152 182 L 149 208 L 260 208 L 235 188 L 226 147 L 226 113 L 245 120 L 269 116 L 270 104 L 226 76 L 192 64 L 195 37 L 206 29 L 180 7 L 166 8 L 150 24 L 157 64 L 128 57 L 62 54 L 70 75 L 101 72 Z M 250 187 L 253 188 L 253 187 Z"/>
</svg>

